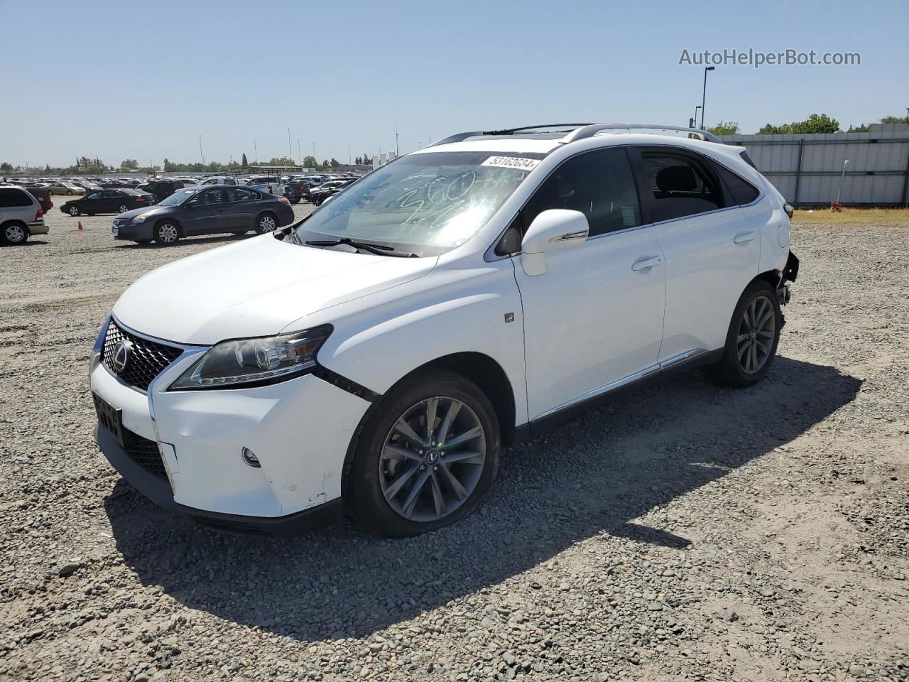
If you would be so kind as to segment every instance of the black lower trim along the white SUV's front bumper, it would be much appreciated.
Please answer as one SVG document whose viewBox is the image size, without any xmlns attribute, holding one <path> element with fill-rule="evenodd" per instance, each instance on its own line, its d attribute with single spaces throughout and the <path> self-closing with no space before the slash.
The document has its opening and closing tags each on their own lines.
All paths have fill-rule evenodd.
<svg viewBox="0 0 909 682">
<path fill-rule="evenodd" d="M 175 502 L 174 492 L 171 490 L 169 481 L 153 476 L 142 466 L 136 464 L 116 442 L 114 436 L 108 435 L 105 429 L 99 428 L 97 425 L 95 425 L 95 441 L 111 466 L 136 490 L 156 505 L 193 517 L 207 527 L 235 533 L 292 537 L 330 526 L 341 520 L 343 516 L 340 497 L 295 514 L 288 514 L 285 517 L 246 517 L 240 514 L 222 514 L 181 505 Z"/>
</svg>

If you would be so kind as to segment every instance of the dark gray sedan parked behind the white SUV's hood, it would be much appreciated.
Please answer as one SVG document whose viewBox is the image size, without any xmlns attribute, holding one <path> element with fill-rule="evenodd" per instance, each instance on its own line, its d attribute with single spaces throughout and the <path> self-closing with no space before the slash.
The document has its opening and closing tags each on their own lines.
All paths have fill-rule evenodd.
<svg viewBox="0 0 909 682">
<path fill-rule="evenodd" d="M 281 196 L 234 185 L 179 189 L 155 206 L 126 211 L 114 220 L 114 238 L 162 246 L 181 237 L 271 232 L 294 222 L 294 209 Z"/>
</svg>

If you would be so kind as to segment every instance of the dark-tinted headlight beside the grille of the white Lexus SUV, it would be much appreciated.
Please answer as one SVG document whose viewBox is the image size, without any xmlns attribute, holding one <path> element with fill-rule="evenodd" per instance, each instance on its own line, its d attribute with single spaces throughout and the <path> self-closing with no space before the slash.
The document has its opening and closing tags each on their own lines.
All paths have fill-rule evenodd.
<svg viewBox="0 0 909 682">
<path fill-rule="evenodd" d="M 332 333 L 317 326 L 293 334 L 242 338 L 212 346 L 169 390 L 274 384 L 305 374 Z"/>
</svg>

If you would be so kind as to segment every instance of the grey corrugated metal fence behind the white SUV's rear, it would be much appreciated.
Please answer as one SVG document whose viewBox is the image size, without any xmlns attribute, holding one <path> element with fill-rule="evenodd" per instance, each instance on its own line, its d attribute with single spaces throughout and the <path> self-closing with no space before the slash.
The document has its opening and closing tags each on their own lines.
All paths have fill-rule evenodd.
<svg viewBox="0 0 909 682">
<path fill-rule="evenodd" d="M 793 206 L 829 206 L 837 194 L 843 206 L 909 205 L 909 125 L 872 125 L 869 133 L 721 139 L 744 146 Z"/>
</svg>

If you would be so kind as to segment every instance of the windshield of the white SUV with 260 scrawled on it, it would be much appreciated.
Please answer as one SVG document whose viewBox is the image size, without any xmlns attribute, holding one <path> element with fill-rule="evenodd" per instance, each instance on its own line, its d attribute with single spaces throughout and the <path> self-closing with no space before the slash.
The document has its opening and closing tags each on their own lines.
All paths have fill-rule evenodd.
<svg viewBox="0 0 909 682">
<path fill-rule="evenodd" d="M 543 156 L 402 156 L 342 189 L 305 220 L 298 236 L 301 241 L 344 237 L 438 255 L 474 236 Z"/>
</svg>

